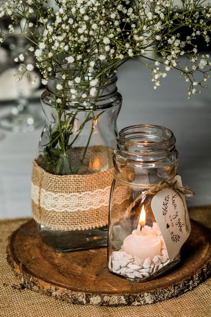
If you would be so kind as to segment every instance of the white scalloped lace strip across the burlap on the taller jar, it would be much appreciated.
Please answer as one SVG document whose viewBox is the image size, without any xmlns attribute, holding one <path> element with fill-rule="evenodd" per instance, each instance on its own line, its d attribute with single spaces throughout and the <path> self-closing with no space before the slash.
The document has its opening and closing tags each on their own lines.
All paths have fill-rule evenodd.
<svg viewBox="0 0 211 317">
<path fill-rule="evenodd" d="M 97 209 L 109 205 L 111 186 L 83 193 L 55 194 L 31 183 L 31 198 L 35 204 L 49 211 L 69 211 Z M 40 195 L 39 195 L 40 194 Z"/>
</svg>

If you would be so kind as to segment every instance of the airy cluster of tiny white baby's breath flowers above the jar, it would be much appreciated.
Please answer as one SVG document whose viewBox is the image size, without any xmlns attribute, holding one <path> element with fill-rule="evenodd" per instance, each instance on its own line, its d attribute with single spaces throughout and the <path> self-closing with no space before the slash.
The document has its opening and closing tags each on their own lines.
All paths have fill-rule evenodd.
<svg viewBox="0 0 211 317">
<path fill-rule="evenodd" d="M 8 0 L 0 8 L 0 17 L 10 16 L 12 22 L 8 34 L 1 32 L 0 43 L 14 35 L 14 24 L 24 17 L 22 35 L 33 44 L 15 61 L 21 64 L 22 73 L 32 71 L 36 65 L 42 82 L 59 71 L 64 84 L 57 85 L 58 90 L 66 83 L 72 88 L 88 79 L 90 95 L 96 96 L 97 78 L 105 80 L 124 60 L 137 56 L 148 59 L 147 53 L 151 52 L 155 57 L 145 64 L 151 70 L 155 89 L 166 72 L 177 68 L 191 83 L 189 94 L 194 94 L 191 86 L 196 86 L 195 82 L 202 85 L 209 78 L 208 57 L 202 56 L 197 62 L 194 41 L 203 36 L 209 43 L 211 7 L 202 6 L 203 0 L 181 2 L 182 11 L 169 0 L 61 0 L 54 12 L 50 7 L 44 9 L 44 1 Z M 36 25 L 32 22 L 34 14 Z M 192 34 L 182 38 L 176 33 L 179 26 L 188 26 Z M 35 65 L 24 64 L 26 55 L 34 56 Z M 191 69 L 180 66 L 184 55 L 194 63 Z M 196 70 L 203 74 L 202 81 L 195 80 Z M 76 95 L 72 93 L 73 97 Z"/>
</svg>

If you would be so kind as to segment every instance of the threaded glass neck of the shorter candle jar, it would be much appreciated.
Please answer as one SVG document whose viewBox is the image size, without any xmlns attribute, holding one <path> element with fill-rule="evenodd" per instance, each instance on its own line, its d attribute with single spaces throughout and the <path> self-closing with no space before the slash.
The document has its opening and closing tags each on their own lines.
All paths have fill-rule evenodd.
<svg viewBox="0 0 211 317">
<path fill-rule="evenodd" d="M 176 151 L 175 142 L 171 130 L 162 126 L 129 126 L 118 134 L 117 152 L 131 160 L 149 162 L 153 167 L 153 162 L 164 160 Z"/>
</svg>

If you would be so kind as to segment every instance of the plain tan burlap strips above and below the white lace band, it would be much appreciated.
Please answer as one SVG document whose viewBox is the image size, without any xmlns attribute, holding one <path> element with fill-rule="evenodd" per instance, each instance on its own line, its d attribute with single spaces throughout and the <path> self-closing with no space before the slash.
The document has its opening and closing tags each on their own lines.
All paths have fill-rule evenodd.
<svg viewBox="0 0 211 317">
<path fill-rule="evenodd" d="M 92 175 L 53 175 L 41 168 L 36 160 L 33 161 L 32 184 L 39 188 L 38 203 L 32 201 L 32 213 L 36 222 L 55 230 L 84 230 L 103 227 L 108 224 L 109 196 L 106 198 L 106 206 L 89 208 L 88 210 L 47 210 L 40 205 L 40 191 L 57 194 L 82 194 L 93 192 L 111 186 L 113 169 Z M 62 199 L 62 198 L 61 198 Z M 104 201 L 105 203 L 105 201 Z M 85 204 L 85 203 L 84 203 Z"/>
</svg>

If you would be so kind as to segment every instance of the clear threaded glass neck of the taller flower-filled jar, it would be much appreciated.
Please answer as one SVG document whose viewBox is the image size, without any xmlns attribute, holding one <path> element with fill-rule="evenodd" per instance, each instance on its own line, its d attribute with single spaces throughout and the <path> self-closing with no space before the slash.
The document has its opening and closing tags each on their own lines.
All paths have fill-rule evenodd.
<svg viewBox="0 0 211 317">
<path fill-rule="evenodd" d="M 59 97 L 66 97 L 68 99 L 90 99 L 90 100 L 99 100 L 100 98 L 105 98 L 111 94 L 116 93 L 116 81 L 117 77 L 115 74 L 109 76 L 106 80 L 98 80 L 96 88 L 96 94 L 93 96 L 90 94 L 90 89 L 92 88 L 90 82 L 92 77 L 85 77 L 84 81 L 80 83 L 73 83 L 69 85 L 70 79 L 61 79 L 56 76 L 49 76 L 47 83 L 47 90 L 49 93 L 52 93 Z M 58 84 L 62 86 L 62 89 L 58 89 Z M 60 87 L 61 87 L 60 86 Z M 82 97 L 83 94 L 86 94 L 86 97 Z M 74 96 L 74 98 L 72 98 Z"/>
</svg>

